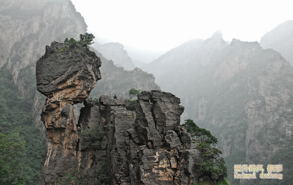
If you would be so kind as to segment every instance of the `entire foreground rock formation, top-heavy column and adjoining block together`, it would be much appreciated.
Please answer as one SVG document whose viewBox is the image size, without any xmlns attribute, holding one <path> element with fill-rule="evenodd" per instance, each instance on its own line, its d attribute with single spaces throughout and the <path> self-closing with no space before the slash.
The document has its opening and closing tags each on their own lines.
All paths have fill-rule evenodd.
<svg viewBox="0 0 293 185">
<path fill-rule="evenodd" d="M 159 90 L 125 98 L 85 100 L 101 79 L 100 59 L 52 42 L 36 64 L 37 89 L 47 96 L 41 119 L 51 140 L 41 168 L 42 184 L 192 184 L 203 174 L 201 151 L 180 127 L 180 99 Z M 73 104 L 84 102 L 78 124 Z M 197 142 L 200 142 L 197 140 Z"/>
</svg>

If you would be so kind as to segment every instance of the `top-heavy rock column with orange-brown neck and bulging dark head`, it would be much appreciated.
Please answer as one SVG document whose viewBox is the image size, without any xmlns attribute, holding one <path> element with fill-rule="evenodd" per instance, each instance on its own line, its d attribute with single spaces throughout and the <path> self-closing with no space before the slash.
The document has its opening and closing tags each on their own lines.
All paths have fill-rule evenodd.
<svg viewBox="0 0 293 185">
<path fill-rule="evenodd" d="M 66 51 L 64 44 L 57 42 L 46 46 L 45 55 L 38 60 L 37 89 L 47 97 L 41 120 L 51 140 L 38 184 L 52 184 L 78 169 L 79 139 L 72 106 L 88 98 L 101 79 L 100 66 L 94 52 Z"/>
</svg>

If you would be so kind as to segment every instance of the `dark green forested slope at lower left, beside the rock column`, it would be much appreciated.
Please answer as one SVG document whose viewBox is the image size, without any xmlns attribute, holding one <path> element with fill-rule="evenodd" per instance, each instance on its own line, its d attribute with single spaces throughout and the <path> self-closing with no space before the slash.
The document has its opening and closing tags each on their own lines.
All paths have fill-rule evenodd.
<svg viewBox="0 0 293 185">
<path fill-rule="evenodd" d="M 0 151 L 1 160 L 9 161 L 0 166 L 0 171 L 5 171 L 1 174 L 8 173 L 9 178 L 17 180 L 18 184 L 21 184 L 22 180 L 25 184 L 37 184 L 47 146 L 32 122 L 30 101 L 20 96 L 8 71 L 0 70 L 0 73 L 1 145 L 5 146 L 3 145 L 5 141 L 22 144 L 21 150 L 6 148 L 5 152 Z M 7 184 L 6 181 L 9 180 L 0 175 L 0 184 Z M 11 181 L 8 184 L 13 183 Z"/>
</svg>

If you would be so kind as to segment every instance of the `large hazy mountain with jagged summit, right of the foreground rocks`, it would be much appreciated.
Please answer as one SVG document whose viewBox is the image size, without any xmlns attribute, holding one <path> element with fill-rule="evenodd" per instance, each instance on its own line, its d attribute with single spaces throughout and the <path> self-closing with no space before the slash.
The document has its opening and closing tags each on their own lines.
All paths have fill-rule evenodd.
<svg viewBox="0 0 293 185">
<path fill-rule="evenodd" d="M 228 45 L 216 32 L 183 43 L 143 69 L 163 91 L 180 97 L 184 119 L 218 138 L 230 182 L 291 183 L 293 68 L 280 53 L 258 42 L 233 39 Z M 284 179 L 233 178 L 234 164 L 254 163 L 283 164 Z"/>
</svg>

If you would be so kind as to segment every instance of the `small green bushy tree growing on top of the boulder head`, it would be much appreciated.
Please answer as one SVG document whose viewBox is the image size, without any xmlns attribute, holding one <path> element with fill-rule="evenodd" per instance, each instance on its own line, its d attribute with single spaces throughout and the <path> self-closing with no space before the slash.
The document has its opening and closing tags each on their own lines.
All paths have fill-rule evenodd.
<svg viewBox="0 0 293 185">
<path fill-rule="evenodd" d="M 64 40 L 66 50 L 72 50 L 74 48 L 81 49 L 81 52 L 88 52 L 89 45 L 93 44 L 93 39 L 95 36 L 93 34 L 85 33 L 79 35 L 79 41 L 76 41 L 74 38 L 66 38 Z M 58 50 L 59 52 L 59 50 Z"/>
</svg>

